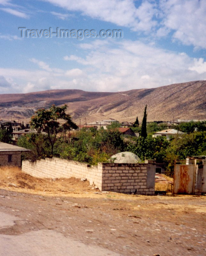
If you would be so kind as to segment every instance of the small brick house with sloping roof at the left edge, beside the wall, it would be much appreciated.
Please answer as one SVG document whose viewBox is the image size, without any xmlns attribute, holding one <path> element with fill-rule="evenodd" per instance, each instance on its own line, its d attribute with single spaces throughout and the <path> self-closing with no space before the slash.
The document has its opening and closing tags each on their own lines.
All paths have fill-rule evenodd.
<svg viewBox="0 0 206 256">
<path fill-rule="evenodd" d="M 26 148 L 0 142 L 0 165 L 21 166 L 21 152 L 30 151 Z"/>
</svg>

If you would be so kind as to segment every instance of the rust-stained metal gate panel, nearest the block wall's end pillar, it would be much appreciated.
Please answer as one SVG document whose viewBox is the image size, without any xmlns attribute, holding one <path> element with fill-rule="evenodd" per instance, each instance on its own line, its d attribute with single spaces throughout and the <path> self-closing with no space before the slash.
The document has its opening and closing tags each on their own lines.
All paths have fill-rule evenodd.
<svg viewBox="0 0 206 256">
<path fill-rule="evenodd" d="M 174 194 L 193 194 L 194 164 L 175 164 Z"/>
</svg>

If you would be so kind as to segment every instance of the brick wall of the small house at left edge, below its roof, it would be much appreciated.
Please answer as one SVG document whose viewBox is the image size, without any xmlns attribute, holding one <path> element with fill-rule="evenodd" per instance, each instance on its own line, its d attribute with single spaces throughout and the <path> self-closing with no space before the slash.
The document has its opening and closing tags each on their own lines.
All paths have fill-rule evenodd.
<svg viewBox="0 0 206 256">
<path fill-rule="evenodd" d="M 12 155 L 11 162 L 8 162 L 8 155 Z M 0 152 L 0 165 L 21 166 L 21 151 Z"/>
</svg>

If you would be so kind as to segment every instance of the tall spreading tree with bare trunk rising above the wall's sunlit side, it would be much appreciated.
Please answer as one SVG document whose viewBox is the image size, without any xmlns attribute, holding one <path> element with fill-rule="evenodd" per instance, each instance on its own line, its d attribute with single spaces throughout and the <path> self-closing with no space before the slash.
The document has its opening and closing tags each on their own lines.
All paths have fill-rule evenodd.
<svg viewBox="0 0 206 256">
<path fill-rule="evenodd" d="M 36 115 L 31 117 L 31 127 L 36 129 L 38 134 L 41 131 L 47 132 L 47 139 L 51 146 L 51 156 L 53 156 L 54 144 L 57 140 L 57 134 L 62 132 L 63 127 L 58 122 L 59 119 L 65 120 L 67 126 L 64 126 L 64 129 L 77 129 L 78 126 L 72 122 L 70 115 L 65 113 L 67 105 L 62 107 L 52 107 L 48 110 L 41 108 L 36 111 Z"/>
</svg>

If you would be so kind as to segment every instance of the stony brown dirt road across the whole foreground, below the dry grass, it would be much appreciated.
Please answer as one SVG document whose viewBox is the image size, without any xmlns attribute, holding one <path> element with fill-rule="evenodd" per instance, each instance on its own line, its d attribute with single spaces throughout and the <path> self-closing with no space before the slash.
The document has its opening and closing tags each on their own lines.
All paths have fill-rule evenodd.
<svg viewBox="0 0 206 256">
<path fill-rule="evenodd" d="M 65 255 L 75 255 L 68 253 L 71 247 L 66 246 L 68 241 L 76 241 L 80 247 L 90 246 L 79 255 L 93 255 L 95 249 L 99 255 L 206 254 L 204 196 L 123 195 L 120 198 L 116 193 L 92 193 L 96 198 L 39 196 L 0 189 L 1 220 L 5 219 L 3 214 L 14 220 L 14 225 L 4 223 L 0 228 L 0 239 L 7 241 L 6 248 L 11 251 L 15 241 L 27 244 L 33 237 L 39 244 L 31 247 L 33 252 L 36 250 L 33 255 L 40 255 L 41 248 L 47 252 L 51 246 L 55 252 L 59 250 L 56 256 L 62 255 L 62 248 L 67 252 Z M 41 236 L 44 243 L 38 243 L 37 238 Z M 8 239 L 13 239 L 12 243 Z M 3 245 L 0 243 L 1 253 L 5 250 Z"/>
</svg>

